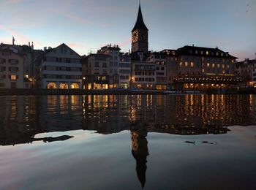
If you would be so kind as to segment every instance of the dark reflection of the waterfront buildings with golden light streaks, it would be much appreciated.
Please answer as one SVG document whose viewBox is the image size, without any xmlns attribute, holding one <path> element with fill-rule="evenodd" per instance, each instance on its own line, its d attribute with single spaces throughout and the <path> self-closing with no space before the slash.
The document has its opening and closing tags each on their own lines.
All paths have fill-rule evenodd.
<svg viewBox="0 0 256 190">
<path fill-rule="evenodd" d="M 135 154 L 146 132 L 225 134 L 227 126 L 256 123 L 254 96 L 242 95 L 2 96 L 0 107 L 0 145 L 34 141 L 38 133 L 131 130 Z"/>
</svg>

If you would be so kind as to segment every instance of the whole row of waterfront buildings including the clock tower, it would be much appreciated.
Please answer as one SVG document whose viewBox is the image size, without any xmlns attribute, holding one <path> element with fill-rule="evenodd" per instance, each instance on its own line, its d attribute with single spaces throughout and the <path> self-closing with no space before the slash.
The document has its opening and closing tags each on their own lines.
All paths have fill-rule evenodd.
<svg viewBox="0 0 256 190">
<path fill-rule="evenodd" d="M 106 45 L 80 56 L 65 44 L 34 50 L 0 45 L 0 88 L 208 90 L 256 87 L 256 61 L 237 62 L 218 47 L 186 45 L 148 51 L 148 28 L 141 8 L 132 29 L 132 51 Z"/>
</svg>

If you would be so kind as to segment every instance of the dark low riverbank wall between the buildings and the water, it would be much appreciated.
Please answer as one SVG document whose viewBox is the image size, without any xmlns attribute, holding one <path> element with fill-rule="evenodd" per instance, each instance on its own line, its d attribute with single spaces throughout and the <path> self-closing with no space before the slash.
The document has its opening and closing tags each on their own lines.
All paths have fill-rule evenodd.
<svg viewBox="0 0 256 190">
<path fill-rule="evenodd" d="M 143 91 L 130 89 L 81 90 L 81 89 L 0 89 L 0 96 L 39 95 L 154 95 L 154 94 L 256 94 L 256 91 Z"/>
</svg>

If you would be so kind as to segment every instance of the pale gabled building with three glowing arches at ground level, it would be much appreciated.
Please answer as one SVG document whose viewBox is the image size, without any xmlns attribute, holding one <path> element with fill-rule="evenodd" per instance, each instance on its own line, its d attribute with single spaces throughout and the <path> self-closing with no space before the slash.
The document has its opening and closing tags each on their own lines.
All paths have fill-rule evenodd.
<svg viewBox="0 0 256 190">
<path fill-rule="evenodd" d="M 37 80 L 40 88 L 81 88 L 80 56 L 65 44 L 45 50 L 37 58 Z"/>
</svg>

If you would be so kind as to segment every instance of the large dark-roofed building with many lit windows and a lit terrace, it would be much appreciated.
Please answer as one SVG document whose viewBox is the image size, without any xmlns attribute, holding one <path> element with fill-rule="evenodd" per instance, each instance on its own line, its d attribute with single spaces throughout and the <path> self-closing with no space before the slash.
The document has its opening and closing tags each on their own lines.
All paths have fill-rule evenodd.
<svg viewBox="0 0 256 190">
<path fill-rule="evenodd" d="M 212 90 L 235 88 L 236 57 L 219 48 L 184 46 L 176 52 L 178 90 Z"/>
</svg>

